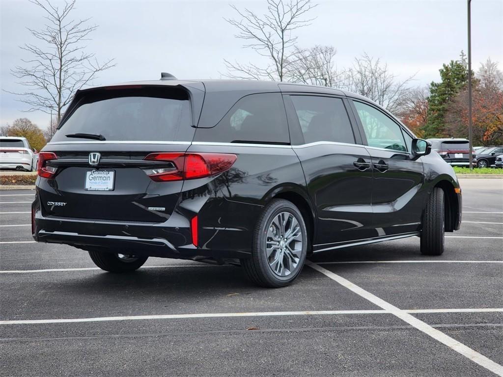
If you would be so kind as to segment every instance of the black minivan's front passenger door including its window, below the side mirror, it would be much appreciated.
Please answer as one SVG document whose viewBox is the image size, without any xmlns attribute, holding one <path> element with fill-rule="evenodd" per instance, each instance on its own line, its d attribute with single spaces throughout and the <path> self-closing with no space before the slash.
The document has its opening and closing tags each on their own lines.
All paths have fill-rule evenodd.
<svg viewBox="0 0 503 377">
<path fill-rule="evenodd" d="M 372 156 L 375 236 L 419 230 L 427 193 L 423 163 L 409 152 L 412 136 L 376 106 L 356 100 L 353 106 Z"/>
</svg>

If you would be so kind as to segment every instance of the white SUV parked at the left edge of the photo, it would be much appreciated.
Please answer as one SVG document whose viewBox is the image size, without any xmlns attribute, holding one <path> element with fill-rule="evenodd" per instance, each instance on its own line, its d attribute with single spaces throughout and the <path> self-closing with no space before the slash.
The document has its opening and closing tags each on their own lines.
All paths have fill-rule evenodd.
<svg viewBox="0 0 503 377">
<path fill-rule="evenodd" d="M 26 138 L 0 137 L 0 169 L 33 171 L 36 167 L 37 158 Z"/>
</svg>

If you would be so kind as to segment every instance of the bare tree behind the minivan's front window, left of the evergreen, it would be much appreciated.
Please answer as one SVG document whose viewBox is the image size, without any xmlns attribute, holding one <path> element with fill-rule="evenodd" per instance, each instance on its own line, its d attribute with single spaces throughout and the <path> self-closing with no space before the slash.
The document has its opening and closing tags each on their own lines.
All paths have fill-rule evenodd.
<svg viewBox="0 0 503 377">
<path fill-rule="evenodd" d="M 390 112 L 397 112 L 410 91 L 409 84 L 414 76 L 398 80 L 386 63 L 364 53 L 355 58 L 353 66 L 345 72 L 343 87 L 371 99 Z"/>
</svg>

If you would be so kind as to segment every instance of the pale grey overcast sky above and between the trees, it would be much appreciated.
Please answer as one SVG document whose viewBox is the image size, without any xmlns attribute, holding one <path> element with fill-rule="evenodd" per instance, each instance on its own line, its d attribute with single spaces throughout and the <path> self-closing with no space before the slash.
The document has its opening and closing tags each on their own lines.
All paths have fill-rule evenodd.
<svg viewBox="0 0 503 377">
<path fill-rule="evenodd" d="M 337 48 L 339 68 L 367 52 L 386 62 L 402 77 L 417 72 L 414 84 L 438 80 L 442 63 L 467 49 L 466 1 L 314 1 L 311 26 L 298 31 L 298 43 Z M 60 2 L 53 2 L 60 4 Z M 229 4 L 262 13 L 265 1 L 92 1 L 77 0 L 74 18 L 92 17 L 99 25 L 88 49 L 100 60 L 115 58 L 94 81 L 101 85 L 157 79 L 161 71 L 179 78 L 219 78 L 223 59 L 258 62 L 256 53 L 241 47 L 235 30 L 223 17 L 235 17 Z M 26 0 L 0 0 L 1 76 L 4 90 L 22 91 L 10 69 L 27 55 L 18 47 L 35 42 L 27 27 L 44 25 L 41 9 Z M 503 0 L 472 1 L 472 62 L 476 70 L 487 57 L 503 68 Z M 49 116 L 24 113 L 26 105 L 2 91 L 0 124 L 28 117 L 41 128 Z"/>
</svg>

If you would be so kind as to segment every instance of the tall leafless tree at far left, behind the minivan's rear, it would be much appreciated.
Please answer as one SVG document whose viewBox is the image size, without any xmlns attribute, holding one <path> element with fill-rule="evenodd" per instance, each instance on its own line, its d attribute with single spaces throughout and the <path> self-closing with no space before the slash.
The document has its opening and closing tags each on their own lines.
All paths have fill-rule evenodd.
<svg viewBox="0 0 503 377">
<path fill-rule="evenodd" d="M 14 94 L 30 106 L 28 111 L 40 110 L 47 114 L 53 111 L 59 121 L 75 90 L 115 64 L 113 59 L 100 63 L 94 53 L 85 51 L 85 42 L 97 26 L 88 26 L 90 19 L 70 18 L 75 0 L 65 1 L 62 7 L 52 5 L 49 0 L 30 1 L 45 12 L 47 24 L 42 30 L 28 28 L 39 44 L 20 46 L 31 57 L 22 60 L 23 66 L 12 70 L 21 80 L 18 83 L 27 88 Z"/>
</svg>

